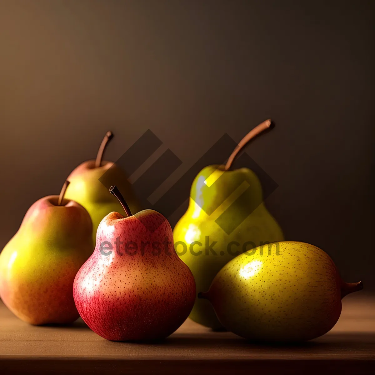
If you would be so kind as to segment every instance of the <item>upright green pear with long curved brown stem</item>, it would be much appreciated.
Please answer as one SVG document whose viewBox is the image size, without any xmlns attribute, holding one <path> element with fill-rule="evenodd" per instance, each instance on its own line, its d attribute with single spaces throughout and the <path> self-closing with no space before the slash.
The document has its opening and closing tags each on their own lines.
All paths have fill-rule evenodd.
<svg viewBox="0 0 375 375">
<path fill-rule="evenodd" d="M 225 166 L 207 166 L 193 181 L 189 207 L 176 224 L 173 236 L 180 259 L 192 271 L 198 291 L 208 290 L 217 272 L 243 251 L 284 240 L 281 228 L 263 203 L 257 175 L 248 168 L 231 170 L 239 151 L 270 125 L 271 120 L 267 120 L 255 127 Z M 222 329 L 206 300 L 196 299 L 189 317 L 214 330 Z"/>
</svg>

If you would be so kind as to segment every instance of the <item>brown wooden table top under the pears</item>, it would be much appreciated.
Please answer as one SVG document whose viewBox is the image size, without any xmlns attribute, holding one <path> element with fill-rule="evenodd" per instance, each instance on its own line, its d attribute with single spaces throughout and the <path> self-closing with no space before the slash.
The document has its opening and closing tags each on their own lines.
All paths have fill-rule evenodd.
<svg viewBox="0 0 375 375">
<path fill-rule="evenodd" d="M 110 342 L 83 321 L 34 327 L 0 303 L 0 374 L 375 374 L 375 297 L 348 296 L 339 322 L 300 345 L 254 345 L 187 320 L 158 344 Z"/>
</svg>

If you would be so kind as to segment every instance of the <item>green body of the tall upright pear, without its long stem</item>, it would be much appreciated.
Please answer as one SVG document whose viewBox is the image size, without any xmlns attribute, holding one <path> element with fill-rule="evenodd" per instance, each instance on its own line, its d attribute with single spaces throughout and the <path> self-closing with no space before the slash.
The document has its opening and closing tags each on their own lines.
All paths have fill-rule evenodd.
<svg viewBox="0 0 375 375">
<path fill-rule="evenodd" d="M 221 174 L 220 183 L 211 184 L 209 194 L 204 193 L 205 181 L 209 181 L 212 177 L 215 180 Z M 251 213 L 248 217 L 228 235 L 217 225 L 215 220 L 236 199 L 234 194 L 234 196 L 229 196 L 226 202 L 222 204 L 228 196 L 228 191 L 232 192 L 239 188 L 244 180 L 248 182 L 252 189 L 248 207 L 251 207 L 253 211 L 249 211 Z M 187 249 L 195 241 L 203 244 L 201 248 L 198 245 L 194 248 L 194 251 L 201 250 L 201 255 L 192 254 L 190 251 L 180 255 L 181 260 L 187 264 L 194 275 L 197 292 L 207 291 L 217 272 L 242 252 L 241 248 L 236 248 L 236 246 L 232 246 L 231 252 L 228 252 L 227 248 L 231 242 L 236 241 L 243 245 L 252 241 L 255 246 L 258 246 L 261 242 L 284 240 L 280 226 L 262 201 L 261 183 L 257 175 L 248 168 L 224 172 L 220 171 L 220 165 L 210 165 L 196 175 L 190 191 L 189 207 L 174 227 L 173 235 L 175 243 L 184 242 Z M 212 211 L 213 213 L 211 213 Z M 231 222 L 236 220 L 236 217 L 227 216 L 227 220 Z M 214 246 L 216 255 L 205 252 L 206 236 L 209 237 L 210 242 L 216 242 Z M 181 251 L 181 249 L 179 250 Z M 206 300 L 196 299 L 190 318 L 196 323 L 211 327 L 214 330 L 222 328 L 211 304 Z"/>
</svg>

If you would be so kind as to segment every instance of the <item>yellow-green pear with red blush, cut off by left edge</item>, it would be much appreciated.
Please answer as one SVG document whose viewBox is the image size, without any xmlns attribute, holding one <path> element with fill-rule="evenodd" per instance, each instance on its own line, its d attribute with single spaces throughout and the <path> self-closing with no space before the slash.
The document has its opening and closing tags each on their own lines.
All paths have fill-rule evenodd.
<svg viewBox="0 0 375 375">
<path fill-rule="evenodd" d="M 0 297 L 30 324 L 67 324 L 78 311 L 73 281 L 93 251 L 92 222 L 77 202 L 50 195 L 28 209 L 0 254 Z"/>
</svg>

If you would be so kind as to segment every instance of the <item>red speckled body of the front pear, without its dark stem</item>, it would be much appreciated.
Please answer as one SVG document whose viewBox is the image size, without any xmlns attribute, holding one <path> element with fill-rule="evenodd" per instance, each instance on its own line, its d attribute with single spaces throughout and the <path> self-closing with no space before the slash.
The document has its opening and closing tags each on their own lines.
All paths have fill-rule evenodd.
<svg viewBox="0 0 375 375">
<path fill-rule="evenodd" d="M 155 222 L 160 224 L 156 229 Z M 124 242 L 118 252 L 117 237 Z M 110 255 L 100 252 L 105 241 L 113 245 Z M 126 252 L 129 242 L 132 248 Z M 154 243 L 161 246 L 153 249 Z M 135 246 L 136 254 L 130 255 Z M 104 252 L 109 252 L 107 247 Z M 111 341 L 166 338 L 186 320 L 195 300 L 194 278 L 174 251 L 172 229 L 153 210 L 125 218 L 117 212 L 108 214 L 98 227 L 95 251 L 77 273 L 73 289 L 83 320 Z"/>
</svg>

